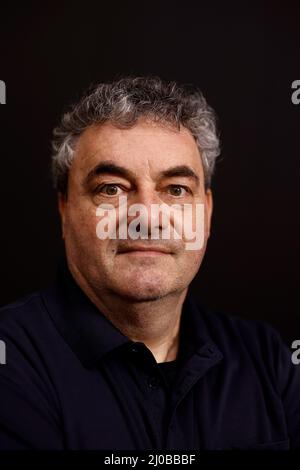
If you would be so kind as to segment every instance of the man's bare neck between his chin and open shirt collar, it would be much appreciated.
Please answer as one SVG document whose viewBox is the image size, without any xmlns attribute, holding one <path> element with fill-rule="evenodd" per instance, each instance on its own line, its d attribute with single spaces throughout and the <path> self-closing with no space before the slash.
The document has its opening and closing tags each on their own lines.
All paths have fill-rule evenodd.
<svg viewBox="0 0 300 470">
<path fill-rule="evenodd" d="M 144 343 L 156 362 L 173 361 L 179 349 L 182 306 L 187 288 L 149 301 L 124 299 L 113 292 L 95 290 L 78 273 L 77 284 L 111 323 L 132 341 Z"/>
</svg>

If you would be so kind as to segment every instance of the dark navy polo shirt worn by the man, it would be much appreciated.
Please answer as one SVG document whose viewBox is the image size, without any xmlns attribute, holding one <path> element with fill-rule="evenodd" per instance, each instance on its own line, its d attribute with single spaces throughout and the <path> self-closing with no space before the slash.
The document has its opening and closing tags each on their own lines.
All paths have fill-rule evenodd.
<svg viewBox="0 0 300 470">
<path fill-rule="evenodd" d="M 0 311 L 0 449 L 300 448 L 300 366 L 261 322 L 185 300 L 157 364 L 86 297 L 55 284 Z"/>
</svg>

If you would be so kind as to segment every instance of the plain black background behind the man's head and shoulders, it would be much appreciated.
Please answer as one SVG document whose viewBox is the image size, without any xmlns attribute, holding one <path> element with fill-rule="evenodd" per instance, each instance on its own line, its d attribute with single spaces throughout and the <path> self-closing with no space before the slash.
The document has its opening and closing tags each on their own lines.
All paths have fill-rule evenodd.
<svg viewBox="0 0 300 470">
<path fill-rule="evenodd" d="M 62 251 L 50 139 L 91 83 L 198 85 L 220 119 L 213 233 L 193 290 L 300 338 L 300 7 L 289 2 L 1 4 L 0 304 L 47 285 Z"/>
</svg>

